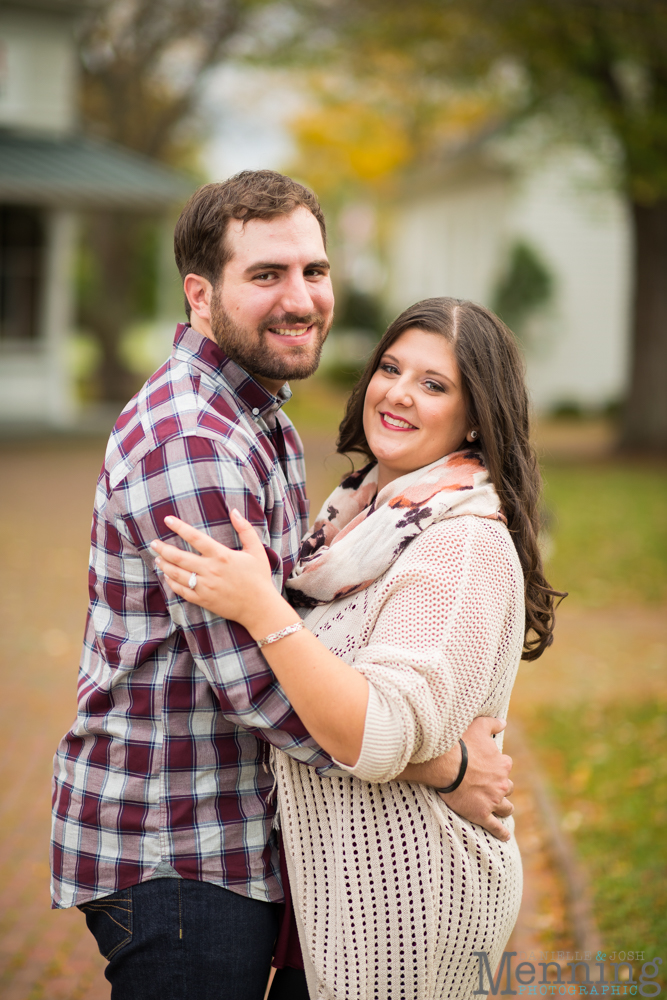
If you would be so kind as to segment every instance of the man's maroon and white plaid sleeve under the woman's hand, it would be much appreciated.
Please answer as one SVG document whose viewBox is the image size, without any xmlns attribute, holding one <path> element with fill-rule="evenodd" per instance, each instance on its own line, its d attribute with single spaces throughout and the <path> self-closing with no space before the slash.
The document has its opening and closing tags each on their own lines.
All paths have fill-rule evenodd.
<svg viewBox="0 0 667 1000">
<path fill-rule="evenodd" d="M 229 722 L 326 771 L 331 758 L 292 710 L 248 632 L 174 594 L 156 573 L 150 549 L 154 538 L 185 545 L 166 528 L 168 514 L 238 548 L 228 516 L 236 507 L 262 539 L 281 590 L 283 502 L 270 475 L 261 481 L 248 456 L 222 442 L 183 436 L 154 449 L 109 491 L 94 525 L 91 615 L 112 669 L 136 669 L 158 647 L 161 655 L 177 655 L 185 644 Z"/>
</svg>

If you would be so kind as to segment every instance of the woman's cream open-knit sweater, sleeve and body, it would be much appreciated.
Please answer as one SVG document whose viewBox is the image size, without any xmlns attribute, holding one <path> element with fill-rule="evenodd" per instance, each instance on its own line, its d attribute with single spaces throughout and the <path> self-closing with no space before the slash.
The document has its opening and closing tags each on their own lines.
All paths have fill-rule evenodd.
<svg viewBox="0 0 667 1000">
<path fill-rule="evenodd" d="M 521 900 L 514 838 L 393 779 L 476 716 L 506 717 L 523 594 L 507 529 L 464 516 L 433 524 L 368 589 L 308 612 L 370 689 L 355 767 L 320 777 L 274 754 L 312 1000 L 465 1000 L 479 988 L 473 952 L 495 969 Z"/>
</svg>

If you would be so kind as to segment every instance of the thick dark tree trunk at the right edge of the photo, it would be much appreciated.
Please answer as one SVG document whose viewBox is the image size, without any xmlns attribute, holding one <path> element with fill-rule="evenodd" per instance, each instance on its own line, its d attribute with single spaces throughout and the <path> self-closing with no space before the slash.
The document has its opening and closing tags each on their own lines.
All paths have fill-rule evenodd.
<svg viewBox="0 0 667 1000">
<path fill-rule="evenodd" d="M 667 201 L 633 205 L 635 288 L 630 394 L 621 443 L 667 450 Z"/>
</svg>

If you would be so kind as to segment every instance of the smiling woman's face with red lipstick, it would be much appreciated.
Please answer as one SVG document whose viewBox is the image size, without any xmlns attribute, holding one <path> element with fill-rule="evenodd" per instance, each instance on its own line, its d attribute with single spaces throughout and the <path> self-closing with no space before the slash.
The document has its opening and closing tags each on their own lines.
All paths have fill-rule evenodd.
<svg viewBox="0 0 667 1000">
<path fill-rule="evenodd" d="M 416 327 L 383 354 L 364 401 L 378 489 L 454 451 L 472 430 L 449 342 Z"/>
</svg>

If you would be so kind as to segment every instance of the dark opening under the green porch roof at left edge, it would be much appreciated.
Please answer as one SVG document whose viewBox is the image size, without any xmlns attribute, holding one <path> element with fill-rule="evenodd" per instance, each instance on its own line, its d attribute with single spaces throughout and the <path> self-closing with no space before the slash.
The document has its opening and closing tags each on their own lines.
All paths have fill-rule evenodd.
<svg viewBox="0 0 667 1000">
<path fill-rule="evenodd" d="M 44 220 L 36 208 L 0 205 L 0 341 L 39 336 Z"/>
</svg>

